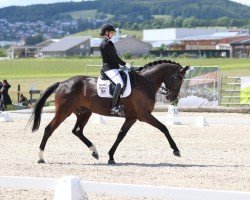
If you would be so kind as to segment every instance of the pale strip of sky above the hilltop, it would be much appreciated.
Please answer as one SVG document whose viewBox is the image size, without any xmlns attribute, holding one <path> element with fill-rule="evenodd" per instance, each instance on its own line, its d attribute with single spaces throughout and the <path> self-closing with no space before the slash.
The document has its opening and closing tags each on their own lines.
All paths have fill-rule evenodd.
<svg viewBox="0 0 250 200">
<path fill-rule="evenodd" d="M 55 3 L 55 2 L 69 2 L 70 0 L 0 0 L 0 8 L 12 6 L 12 5 L 31 5 L 31 4 L 47 4 L 47 3 Z M 81 0 L 71 0 L 71 1 L 81 1 Z M 216 1 L 216 0 L 213 0 Z M 242 3 L 250 6 L 250 0 L 231 0 L 238 3 Z"/>
</svg>

